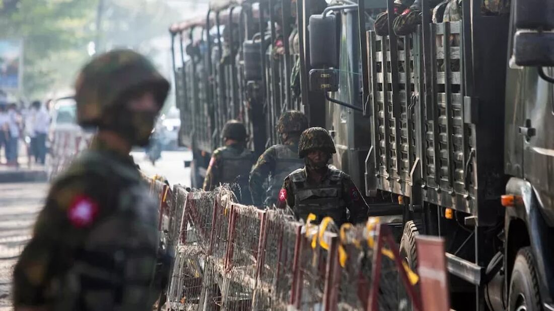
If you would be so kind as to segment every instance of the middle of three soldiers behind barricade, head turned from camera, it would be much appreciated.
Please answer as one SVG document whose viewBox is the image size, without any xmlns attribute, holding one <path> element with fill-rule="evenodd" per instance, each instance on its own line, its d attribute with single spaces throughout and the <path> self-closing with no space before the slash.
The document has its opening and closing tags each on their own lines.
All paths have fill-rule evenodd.
<svg viewBox="0 0 554 311">
<path fill-rule="evenodd" d="M 281 115 L 277 123 L 281 144 L 265 150 L 250 172 L 250 193 L 254 205 L 271 206 L 277 203 L 285 177 L 304 167 L 304 161 L 298 157 L 298 142 L 307 127 L 308 120 L 304 113 L 291 110 Z M 264 189 L 268 176 L 271 177 L 269 187 Z"/>
</svg>

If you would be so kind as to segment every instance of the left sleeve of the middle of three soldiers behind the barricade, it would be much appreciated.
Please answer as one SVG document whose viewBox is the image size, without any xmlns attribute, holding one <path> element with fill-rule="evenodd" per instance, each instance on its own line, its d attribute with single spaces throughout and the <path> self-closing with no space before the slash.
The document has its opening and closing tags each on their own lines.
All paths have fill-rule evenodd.
<svg viewBox="0 0 554 311">
<path fill-rule="evenodd" d="M 264 203 L 264 182 L 267 180 L 269 173 L 275 171 L 275 161 L 275 149 L 270 147 L 260 156 L 258 162 L 256 162 L 252 168 L 252 172 L 250 172 L 249 187 L 254 205 L 261 205 Z"/>
</svg>

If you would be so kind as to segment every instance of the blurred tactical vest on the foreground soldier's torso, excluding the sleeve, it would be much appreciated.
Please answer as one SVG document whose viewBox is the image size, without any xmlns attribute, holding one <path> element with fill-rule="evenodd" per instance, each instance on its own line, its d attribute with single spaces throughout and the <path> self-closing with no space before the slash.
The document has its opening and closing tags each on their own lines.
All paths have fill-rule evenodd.
<svg viewBox="0 0 554 311">
<path fill-rule="evenodd" d="M 109 210 L 71 254 L 69 270 L 54 280 L 54 309 L 151 310 L 163 286 L 155 271 L 162 261 L 167 263 L 158 248 L 155 200 L 134 167 L 109 155 L 88 151 L 74 165 L 93 167 L 119 201 L 102 207 Z"/>
</svg>

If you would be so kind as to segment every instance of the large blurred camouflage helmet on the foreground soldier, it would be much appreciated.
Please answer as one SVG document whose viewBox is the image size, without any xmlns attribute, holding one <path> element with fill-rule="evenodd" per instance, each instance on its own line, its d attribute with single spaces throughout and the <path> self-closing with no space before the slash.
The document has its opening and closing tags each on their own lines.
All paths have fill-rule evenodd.
<svg viewBox="0 0 554 311">
<path fill-rule="evenodd" d="M 106 110 L 124 104 L 125 96 L 151 89 L 161 109 L 170 84 L 146 57 L 132 50 L 113 50 L 95 57 L 75 81 L 77 121 L 100 125 Z"/>
</svg>

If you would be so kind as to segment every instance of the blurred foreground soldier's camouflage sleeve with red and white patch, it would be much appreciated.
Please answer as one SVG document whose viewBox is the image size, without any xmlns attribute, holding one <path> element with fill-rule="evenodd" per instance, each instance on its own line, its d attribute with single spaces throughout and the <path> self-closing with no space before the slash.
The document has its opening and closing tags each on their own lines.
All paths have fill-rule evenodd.
<svg viewBox="0 0 554 311">
<path fill-rule="evenodd" d="M 52 301 L 52 283 L 72 265 L 76 248 L 89 227 L 100 217 L 111 190 L 100 193 L 94 177 L 55 184 L 39 213 L 33 237 L 25 246 L 13 272 L 16 307 L 39 307 Z M 103 198 L 103 199 L 100 199 Z M 106 210 L 106 209 L 104 209 Z"/>
</svg>

